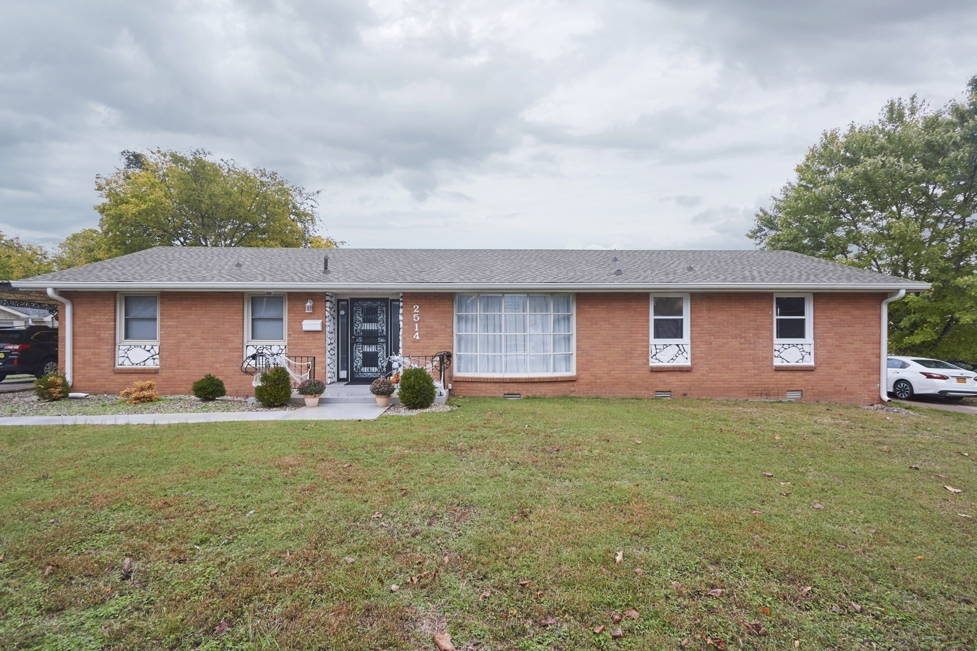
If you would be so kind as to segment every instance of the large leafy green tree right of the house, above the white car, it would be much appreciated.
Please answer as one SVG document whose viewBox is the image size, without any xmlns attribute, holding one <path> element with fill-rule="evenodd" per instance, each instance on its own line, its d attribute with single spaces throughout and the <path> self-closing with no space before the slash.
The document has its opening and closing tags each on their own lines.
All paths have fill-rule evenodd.
<svg viewBox="0 0 977 651">
<path fill-rule="evenodd" d="M 891 349 L 977 360 L 977 77 L 963 102 L 892 100 L 824 133 L 795 172 L 747 236 L 931 282 L 890 305 Z"/>
</svg>

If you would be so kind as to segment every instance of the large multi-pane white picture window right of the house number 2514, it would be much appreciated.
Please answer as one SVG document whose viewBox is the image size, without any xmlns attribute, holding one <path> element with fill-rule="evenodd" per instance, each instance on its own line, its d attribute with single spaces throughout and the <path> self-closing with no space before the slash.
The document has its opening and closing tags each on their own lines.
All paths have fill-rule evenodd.
<svg viewBox="0 0 977 651">
<path fill-rule="evenodd" d="M 457 294 L 458 375 L 573 374 L 572 294 Z"/>
</svg>

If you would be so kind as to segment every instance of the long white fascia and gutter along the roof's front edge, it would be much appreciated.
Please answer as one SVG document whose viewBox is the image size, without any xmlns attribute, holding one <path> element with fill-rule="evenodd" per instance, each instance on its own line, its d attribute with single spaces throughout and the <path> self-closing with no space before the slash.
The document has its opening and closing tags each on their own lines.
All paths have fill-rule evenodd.
<svg viewBox="0 0 977 651">
<path fill-rule="evenodd" d="M 30 282 L 21 289 L 88 291 L 923 291 L 928 282 L 783 283 L 783 282 Z"/>
</svg>

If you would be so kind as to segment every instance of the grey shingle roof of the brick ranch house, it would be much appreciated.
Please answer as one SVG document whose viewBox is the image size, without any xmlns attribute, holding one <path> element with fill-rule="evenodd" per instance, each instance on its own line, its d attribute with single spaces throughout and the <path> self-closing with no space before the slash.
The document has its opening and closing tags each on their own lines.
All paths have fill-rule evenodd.
<svg viewBox="0 0 977 651">
<path fill-rule="evenodd" d="M 329 273 L 322 273 L 323 256 Z M 619 259 L 621 273 L 615 274 Z M 62 289 L 807 288 L 926 289 L 925 282 L 792 251 L 149 248 L 14 282 Z"/>
</svg>

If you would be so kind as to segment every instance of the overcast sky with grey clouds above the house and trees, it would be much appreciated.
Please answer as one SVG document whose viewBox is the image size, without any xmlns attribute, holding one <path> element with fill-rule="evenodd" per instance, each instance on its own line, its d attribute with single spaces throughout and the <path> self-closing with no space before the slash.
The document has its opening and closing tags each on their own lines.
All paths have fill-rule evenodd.
<svg viewBox="0 0 977 651">
<path fill-rule="evenodd" d="M 960 98 L 975 33 L 972 0 L 6 0 L 0 231 L 204 148 L 350 246 L 750 248 L 823 130 Z"/>
</svg>

